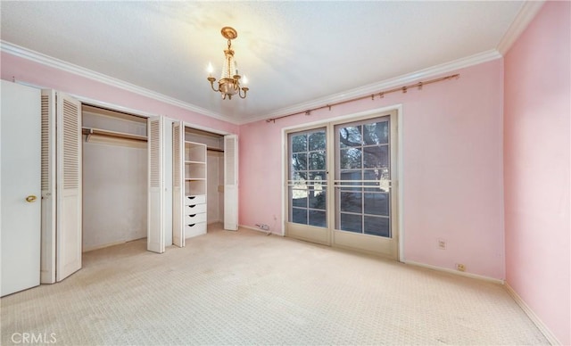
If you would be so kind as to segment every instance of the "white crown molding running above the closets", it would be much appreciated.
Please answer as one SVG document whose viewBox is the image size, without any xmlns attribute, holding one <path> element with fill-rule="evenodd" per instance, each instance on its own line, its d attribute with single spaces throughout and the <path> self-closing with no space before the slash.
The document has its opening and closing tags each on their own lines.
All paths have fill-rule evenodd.
<svg viewBox="0 0 571 346">
<path fill-rule="evenodd" d="M 29 50 L 28 48 L 24 48 L 20 45 L 13 45 L 12 43 L 6 42 L 4 40 L 0 40 L 0 51 L 4 52 L 6 54 L 12 54 L 14 56 L 18 56 L 22 59 L 26 59 L 26 60 L 29 60 L 31 62 L 37 62 L 39 64 L 42 64 L 42 65 L 45 65 L 45 66 L 48 66 L 48 67 L 51 67 L 54 69 L 63 70 L 65 72 L 69 72 L 69 73 L 74 74 L 74 75 L 79 76 L 79 77 L 95 80 L 96 82 L 100 82 L 100 83 L 106 84 L 108 86 L 118 87 L 120 89 L 126 90 L 126 91 L 133 93 L 133 94 L 136 94 L 136 95 L 142 95 L 142 96 L 148 97 L 150 99 L 160 101 L 162 103 L 168 103 L 168 104 L 177 106 L 179 108 L 185 109 L 187 111 L 194 111 L 194 112 L 199 113 L 199 114 L 204 115 L 204 116 L 208 116 L 208 117 L 211 117 L 214 119 L 219 119 L 222 121 L 226 121 L 226 122 L 238 125 L 236 123 L 235 119 L 228 119 L 228 117 L 224 117 L 224 116 L 222 116 L 216 112 L 209 111 L 209 110 L 204 109 L 202 107 L 195 106 L 194 104 L 182 102 L 182 101 L 177 100 L 173 97 L 170 97 L 167 95 L 162 95 L 162 94 L 159 94 L 159 93 L 154 92 L 152 90 L 146 89 L 144 87 L 136 86 L 134 84 L 130 84 L 130 83 L 122 81 L 120 79 L 106 76 L 102 73 L 95 72 L 94 70 L 87 70 L 83 67 L 72 64 L 70 62 L 64 62 L 60 59 L 56 59 L 56 58 L 48 56 L 46 54 L 41 54 L 41 53 L 38 53 L 38 52 L 35 52 L 32 50 Z"/>
</svg>

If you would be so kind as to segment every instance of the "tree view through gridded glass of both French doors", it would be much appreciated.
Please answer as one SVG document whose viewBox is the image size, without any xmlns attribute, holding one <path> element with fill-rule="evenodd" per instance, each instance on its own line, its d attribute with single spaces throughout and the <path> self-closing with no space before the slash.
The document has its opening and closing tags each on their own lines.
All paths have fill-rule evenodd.
<svg viewBox="0 0 571 346">
<path fill-rule="evenodd" d="M 391 237 L 389 118 L 335 126 L 335 229 Z M 288 136 L 289 222 L 327 227 L 326 128 Z"/>
</svg>

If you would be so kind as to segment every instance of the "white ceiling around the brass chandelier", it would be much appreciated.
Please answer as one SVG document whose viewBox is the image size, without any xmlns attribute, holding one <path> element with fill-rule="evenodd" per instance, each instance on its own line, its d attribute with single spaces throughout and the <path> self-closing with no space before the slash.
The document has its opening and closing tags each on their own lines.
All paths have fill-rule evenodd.
<svg viewBox="0 0 571 346">
<path fill-rule="evenodd" d="M 496 49 L 523 4 L 2 1 L 1 38 L 240 124 Z M 246 99 L 222 100 L 206 80 L 225 26 Z"/>
</svg>

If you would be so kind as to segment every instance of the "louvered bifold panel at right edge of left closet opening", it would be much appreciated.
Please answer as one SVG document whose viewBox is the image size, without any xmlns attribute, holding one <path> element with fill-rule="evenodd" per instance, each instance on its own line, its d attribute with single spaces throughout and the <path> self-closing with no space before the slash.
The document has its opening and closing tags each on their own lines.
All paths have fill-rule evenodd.
<svg viewBox="0 0 571 346">
<path fill-rule="evenodd" d="M 164 179 L 162 150 L 162 117 L 150 117 L 147 120 L 148 148 L 149 148 L 149 201 L 148 201 L 148 228 L 146 249 L 148 251 L 164 252 Z"/>
</svg>

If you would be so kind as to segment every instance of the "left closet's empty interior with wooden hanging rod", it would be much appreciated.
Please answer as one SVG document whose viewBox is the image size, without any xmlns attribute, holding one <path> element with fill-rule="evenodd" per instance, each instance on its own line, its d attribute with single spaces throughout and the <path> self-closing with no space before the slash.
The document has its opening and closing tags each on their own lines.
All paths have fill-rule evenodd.
<svg viewBox="0 0 571 346">
<path fill-rule="evenodd" d="M 83 251 L 146 237 L 146 118 L 82 105 Z"/>
</svg>

